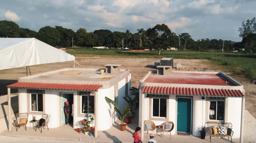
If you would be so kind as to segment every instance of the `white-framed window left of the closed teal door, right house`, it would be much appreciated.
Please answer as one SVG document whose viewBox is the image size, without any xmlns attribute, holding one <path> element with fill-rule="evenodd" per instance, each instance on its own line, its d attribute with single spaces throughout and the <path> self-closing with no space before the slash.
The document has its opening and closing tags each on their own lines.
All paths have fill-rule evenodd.
<svg viewBox="0 0 256 143">
<path fill-rule="evenodd" d="M 152 104 L 152 116 L 153 117 L 165 117 L 166 118 L 166 109 L 167 109 L 167 99 L 166 95 L 150 95 L 153 100 Z"/>
</svg>

